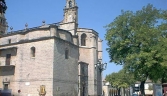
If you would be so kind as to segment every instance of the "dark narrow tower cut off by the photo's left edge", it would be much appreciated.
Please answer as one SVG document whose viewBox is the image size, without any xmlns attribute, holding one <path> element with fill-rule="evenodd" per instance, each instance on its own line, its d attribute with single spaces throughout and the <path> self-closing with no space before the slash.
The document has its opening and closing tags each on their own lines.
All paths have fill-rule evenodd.
<svg viewBox="0 0 167 96">
<path fill-rule="evenodd" d="M 5 0 L 0 0 L 0 34 L 4 34 L 6 32 L 6 18 L 5 11 L 7 9 Z"/>
</svg>

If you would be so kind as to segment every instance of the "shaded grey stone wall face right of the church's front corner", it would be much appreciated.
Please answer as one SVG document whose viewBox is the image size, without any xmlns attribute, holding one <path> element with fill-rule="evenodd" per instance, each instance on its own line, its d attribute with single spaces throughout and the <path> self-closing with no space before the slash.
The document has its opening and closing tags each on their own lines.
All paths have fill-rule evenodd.
<svg viewBox="0 0 167 96">
<path fill-rule="evenodd" d="M 65 58 L 68 50 L 68 59 Z M 77 96 L 78 93 L 78 46 L 55 39 L 53 90 L 54 96 Z"/>
</svg>

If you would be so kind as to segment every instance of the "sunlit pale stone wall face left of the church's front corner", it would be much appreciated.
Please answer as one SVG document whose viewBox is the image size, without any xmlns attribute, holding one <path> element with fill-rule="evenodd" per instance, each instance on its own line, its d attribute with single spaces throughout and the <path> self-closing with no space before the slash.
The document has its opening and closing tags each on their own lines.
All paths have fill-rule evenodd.
<svg viewBox="0 0 167 96">
<path fill-rule="evenodd" d="M 53 46 L 54 40 L 29 42 L 14 45 L 17 47 L 17 55 L 12 56 L 12 62 L 15 62 L 15 73 L 10 78 L 9 89 L 17 96 L 18 90 L 21 90 L 20 96 L 36 96 L 40 85 L 46 86 L 47 94 L 52 94 L 53 82 Z M 35 57 L 31 57 L 31 47 L 35 47 Z M 9 54 L 9 52 L 7 52 Z M 0 60 L 5 60 L 1 58 Z M 11 63 L 12 64 L 12 63 Z M 3 76 L 11 77 L 11 76 Z M 30 85 L 26 85 L 29 83 Z M 3 88 L 3 85 L 0 86 Z"/>
</svg>

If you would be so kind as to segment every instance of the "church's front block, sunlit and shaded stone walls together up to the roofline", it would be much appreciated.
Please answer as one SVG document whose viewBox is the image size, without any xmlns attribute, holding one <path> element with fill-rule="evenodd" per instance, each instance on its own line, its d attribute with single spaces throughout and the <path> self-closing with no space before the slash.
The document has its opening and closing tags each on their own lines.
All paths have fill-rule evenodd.
<svg viewBox="0 0 167 96">
<path fill-rule="evenodd" d="M 3 66 L 6 54 L 14 54 L 12 48 L 16 49 L 11 56 L 11 65 L 15 66 L 14 75 L 0 76 L 0 81 L 9 78 L 9 89 L 15 96 L 37 96 L 40 85 L 45 85 L 46 96 L 54 96 L 57 91 L 59 95 L 76 96 L 79 52 L 78 46 L 73 44 L 71 33 L 46 27 L 44 30 L 23 33 L 10 33 L 0 38 L 0 61 L 4 61 Z M 32 47 L 35 48 L 35 57 L 32 57 Z M 66 48 L 69 50 L 67 60 Z M 1 83 L 0 88 L 3 86 Z M 18 93 L 18 90 L 21 92 Z"/>
</svg>

